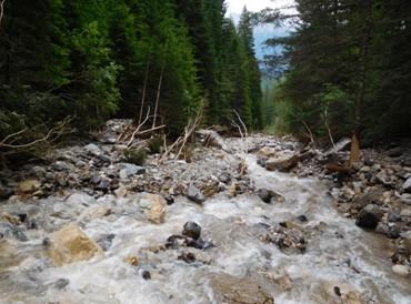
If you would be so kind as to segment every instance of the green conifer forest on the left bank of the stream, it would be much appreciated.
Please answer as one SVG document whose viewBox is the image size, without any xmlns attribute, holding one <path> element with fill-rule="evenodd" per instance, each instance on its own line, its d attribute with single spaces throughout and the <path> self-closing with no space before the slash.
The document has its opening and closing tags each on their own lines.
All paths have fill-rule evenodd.
<svg viewBox="0 0 411 304">
<path fill-rule="evenodd" d="M 0 139 L 148 112 L 177 134 L 200 110 L 208 125 L 230 125 L 234 109 L 262 128 L 247 10 L 239 24 L 222 0 L 6 0 L 2 11 Z"/>
</svg>

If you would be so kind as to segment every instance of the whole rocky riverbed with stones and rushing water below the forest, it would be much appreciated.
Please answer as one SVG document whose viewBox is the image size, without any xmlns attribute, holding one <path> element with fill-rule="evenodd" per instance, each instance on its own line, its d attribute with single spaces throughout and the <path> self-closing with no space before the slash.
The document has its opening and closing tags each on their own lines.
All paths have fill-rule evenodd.
<svg viewBox="0 0 411 304">
<path fill-rule="evenodd" d="M 341 176 L 254 135 L 139 166 L 122 129 L 1 173 L 0 303 L 410 303 L 407 150 Z"/>
</svg>

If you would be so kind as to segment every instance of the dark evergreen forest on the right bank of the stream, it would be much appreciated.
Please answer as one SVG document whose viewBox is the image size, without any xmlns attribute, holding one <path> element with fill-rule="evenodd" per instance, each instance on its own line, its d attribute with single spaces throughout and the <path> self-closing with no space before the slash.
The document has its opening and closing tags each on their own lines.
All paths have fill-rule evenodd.
<svg viewBox="0 0 411 304">
<path fill-rule="evenodd" d="M 270 116 L 277 131 L 363 141 L 411 134 L 411 2 L 298 0 L 295 13 L 271 11 L 288 37 L 265 58 L 277 77 Z M 272 109 L 269 108 L 269 109 Z"/>
</svg>

